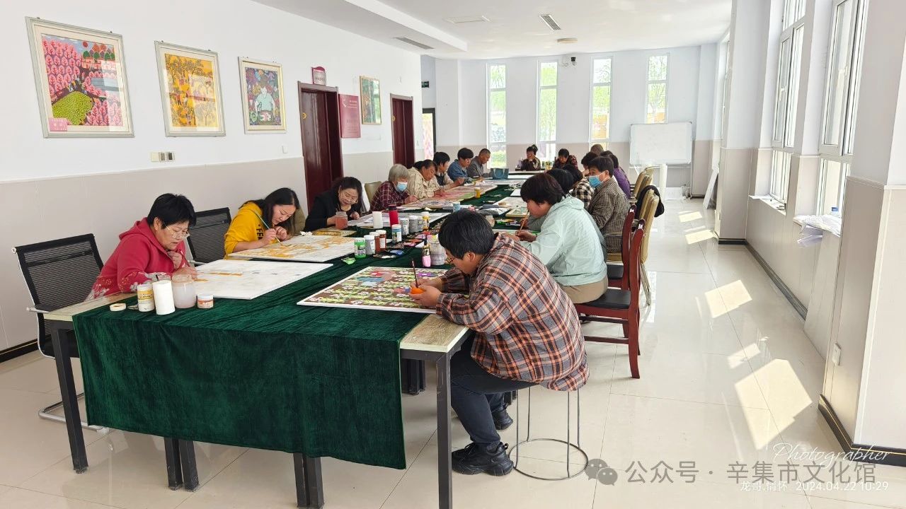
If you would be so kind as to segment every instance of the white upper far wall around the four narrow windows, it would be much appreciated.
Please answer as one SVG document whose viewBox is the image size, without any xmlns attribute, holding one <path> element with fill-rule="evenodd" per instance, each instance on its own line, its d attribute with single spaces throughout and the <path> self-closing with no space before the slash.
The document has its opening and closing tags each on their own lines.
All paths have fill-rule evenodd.
<svg viewBox="0 0 906 509">
<path fill-rule="evenodd" d="M 557 145 L 588 146 L 591 119 L 592 65 L 594 58 L 611 56 L 611 143 L 628 144 L 630 126 L 645 121 L 645 83 L 648 57 L 670 54 L 668 114 L 670 122 L 695 124 L 696 139 L 710 139 L 713 109 L 713 76 L 717 65 L 717 44 L 669 48 L 654 51 L 576 54 L 575 65 L 558 67 Z M 704 63 L 700 64 L 704 53 Z M 569 55 L 567 55 L 569 56 Z M 458 120 L 458 137 L 453 130 L 438 128 L 440 148 L 487 144 L 487 65 L 506 64 L 506 143 L 508 164 L 524 157 L 525 147 L 537 142 L 537 76 L 539 62 L 563 62 L 564 57 L 524 57 L 504 60 L 438 60 L 438 125 Z M 699 75 L 706 76 L 705 83 Z M 451 90 L 458 84 L 458 93 Z M 705 104 L 699 98 L 705 97 Z M 702 124 L 699 126 L 699 124 Z M 581 157 L 583 154 L 578 154 Z M 628 158 L 629 154 L 620 154 Z"/>
</svg>

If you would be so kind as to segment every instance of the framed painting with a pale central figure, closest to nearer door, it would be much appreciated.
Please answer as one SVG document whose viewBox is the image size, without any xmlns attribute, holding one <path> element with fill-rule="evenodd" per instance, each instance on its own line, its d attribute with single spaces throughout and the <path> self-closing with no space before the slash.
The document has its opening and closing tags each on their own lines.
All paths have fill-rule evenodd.
<svg viewBox="0 0 906 509">
<path fill-rule="evenodd" d="M 286 132 L 280 64 L 239 57 L 239 78 L 246 132 Z"/>
</svg>

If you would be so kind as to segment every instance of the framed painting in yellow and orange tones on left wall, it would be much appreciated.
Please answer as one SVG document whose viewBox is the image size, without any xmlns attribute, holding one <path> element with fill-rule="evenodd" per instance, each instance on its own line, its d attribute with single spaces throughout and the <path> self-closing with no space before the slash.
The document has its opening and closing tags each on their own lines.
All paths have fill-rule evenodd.
<svg viewBox="0 0 906 509">
<path fill-rule="evenodd" d="M 167 136 L 224 136 L 217 53 L 156 41 Z"/>
</svg>

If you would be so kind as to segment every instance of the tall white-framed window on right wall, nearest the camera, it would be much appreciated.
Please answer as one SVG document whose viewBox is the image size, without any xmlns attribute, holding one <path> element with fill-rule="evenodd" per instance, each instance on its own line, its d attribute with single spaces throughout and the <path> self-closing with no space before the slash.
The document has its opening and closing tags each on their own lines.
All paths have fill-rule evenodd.
<svg viewBox="0 0 906 509">
<path fill-rule="evenodd" d="M 821 172 L 815 212 L 843 208 L 846 177 L 853 162 L 853 130 L 862 67 L 865 0 L 834 0 L 824 82 Z"/>
</svg>

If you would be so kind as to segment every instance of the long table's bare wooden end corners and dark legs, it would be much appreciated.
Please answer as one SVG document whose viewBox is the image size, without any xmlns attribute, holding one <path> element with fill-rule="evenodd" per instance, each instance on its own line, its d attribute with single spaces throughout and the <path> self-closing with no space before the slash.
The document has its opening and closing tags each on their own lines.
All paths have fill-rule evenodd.
<svg viewBox="0 0 906 509">
<path fill-rule="evenodd" d="M 72 359 L 65 332 L 72 331 L 72 317 L 81 312 L 126 300 L 134 294 L 116 294 L 86 303 L 78 303 L 53 312 L 44 313 L 44 321 L 51 331 L 53 354 L 56 360 L 60 392 L 63 395 L 63 415 L 69 435 L 72 468 L 82 474 L 88 469 L 85 442 L 82 437 L 81 416 L 76 399 L 72 375 Z M 440 509 L 453 506 L 453 478 L 450 448 L 450 388 L 449 362 L 452 355 L 466 339 L 467 328 L 438 315 L 428 315 L 400 341 L 400 358 L 427 360 L 437 367 L 437 418 L 438 418 L 438 500 Z M 164 437 L 167 458 L 168 485 L 171 489 L 185 487 L 198 489 L 198 468 L 195 449 L 191 441 Z M 320 457 L 294 454 L 296 503 L 299 507 L 322 507 L 324 504 L 322 468 Z"/>
</svg>

